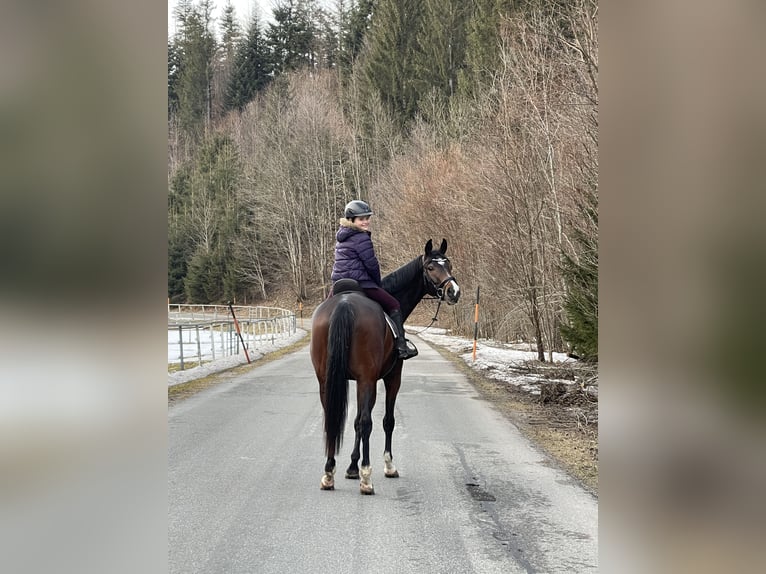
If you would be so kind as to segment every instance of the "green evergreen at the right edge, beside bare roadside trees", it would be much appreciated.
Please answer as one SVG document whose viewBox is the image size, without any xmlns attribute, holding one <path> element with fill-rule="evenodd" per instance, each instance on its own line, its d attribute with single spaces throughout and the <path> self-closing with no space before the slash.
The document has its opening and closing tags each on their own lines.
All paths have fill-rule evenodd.
<svg viewBox="0 0 766 574">
<path fill-rule="evenodd" d="M 567 285 L 564 311 L 569 325 L 561 335 L 572 352 L 587 361 L 598 361 L 598 198 L 591 193 L 582 206 L 584 228 L 573 233 L 579 248 L 575 258 L 563 254 L 562 273 Z M 595 230 L 595 231 L 594 231 Z"/>
</svg>

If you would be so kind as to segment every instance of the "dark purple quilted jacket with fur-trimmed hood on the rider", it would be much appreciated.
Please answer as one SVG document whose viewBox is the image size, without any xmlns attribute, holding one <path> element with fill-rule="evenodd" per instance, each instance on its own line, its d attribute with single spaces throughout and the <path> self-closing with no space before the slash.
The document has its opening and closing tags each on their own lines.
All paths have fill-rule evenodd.
<svg viewBox="0 0 766 574">
<path fill-rule="evenodd" d="M 340 220 L 335 234 L 335 264 L 332 280 L 356 279 L 361 287 L 380 287 L 380 264 L 375 256 L 370 232 L 356 227 L 348 219 Z"/>
</svg>

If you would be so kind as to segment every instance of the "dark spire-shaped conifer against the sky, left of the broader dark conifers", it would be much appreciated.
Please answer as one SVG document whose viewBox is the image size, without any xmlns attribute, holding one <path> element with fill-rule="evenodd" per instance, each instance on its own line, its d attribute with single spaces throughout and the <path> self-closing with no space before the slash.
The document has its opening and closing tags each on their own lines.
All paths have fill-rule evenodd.
<svg viewBox="0 0 766 574">
<path fill-rule="evenodd" d="M 242 110 L 271 81 L 271 62 L 260 18 L 253 13 L 247 35 L 234 57 L 226 90 L 226 109 Z"/>
</svg>

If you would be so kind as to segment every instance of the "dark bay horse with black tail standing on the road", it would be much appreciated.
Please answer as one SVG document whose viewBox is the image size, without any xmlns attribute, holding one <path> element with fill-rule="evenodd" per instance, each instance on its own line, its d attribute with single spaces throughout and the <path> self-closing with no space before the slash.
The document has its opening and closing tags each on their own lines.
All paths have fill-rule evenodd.
<svg viewBox="0 0 766 574">
<path fill-rule="evenodd" d="M 442 239 L 438 249 L 433 249 L 433 242 L 429 239 L 424 253 L 383 278 L 383 288 L 401 305 L 403 320 L 409 317 L 426 294 L 438 299 L 440 305 L 442 301 L 449 305 L 457 303 L 460 287 L 452 276 L 452 264 L 445 255 L 446 251 L 445 239 Z M 316 308 L 311 319 L 310 354 L 324 410 L 327 455 L 320 488 L 335 489 L 335 454 L 340 451 L 343 440 L 348 411 L 348 381 L 351 379 L 356 381 L 357 414 L 354 419 L 354 449 L 346 478 L 359 479 L 362 494 L 375 494 L 370 466 L 370 434 L 377 383 L 383 379 L 386 388 L 384 475 L 396 478 L 399 471 L 393 463 L 391 437 L 403 360 L 395 352 L 394 333 L 386 323 L 383 309 L 353 285 L 356 285 L 355 281 L 341 279 L 336 282 L 333 295 Z M 341 287 L 346 290 L 341 290 Z"/>
</svg>

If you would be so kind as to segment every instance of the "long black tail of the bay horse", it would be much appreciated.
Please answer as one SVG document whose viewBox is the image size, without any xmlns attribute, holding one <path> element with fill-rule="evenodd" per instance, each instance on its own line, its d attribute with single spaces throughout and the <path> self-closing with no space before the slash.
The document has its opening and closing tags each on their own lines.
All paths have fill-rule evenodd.
<svg viewBox="0 0 766 574">
<path fill-rule="evenodd" d="M 348 411 L 348 359 L 354 310 L 348 301 L 341 300 L 330 315 L 327 343 L 327 410 L 325 412 L 325 448 L 335 452 L 343 442 L 343 428 Z"/>
</svg>

